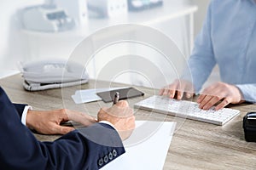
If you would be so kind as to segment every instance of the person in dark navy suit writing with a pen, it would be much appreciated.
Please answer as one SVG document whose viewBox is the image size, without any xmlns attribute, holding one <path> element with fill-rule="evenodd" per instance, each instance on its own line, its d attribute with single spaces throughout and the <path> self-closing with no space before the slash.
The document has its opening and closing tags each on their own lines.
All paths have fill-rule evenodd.
<svg viewBox="0 0 256 170">
<path fill-rule="evenodd" d="M 128 138 L 135 126 L 131 108 L 120 101 L 99 111 L 98 122 L 85 121 L 90 126 L 60 130 L 71 132 L 53 142 L 40 142 L 20 121 L 25 106 L 12 104 L 0 88 L 1 169 L 99 169 L 125 153 L 121 139 Z M 26 124 L 39 132 L 55 133 L 52 129 L 61 127 L 61 121 L 81 118 L 74 111 L 67 111 L 67 117 L 61 116 L 61 111 L 66 110 L 52 113 L 54 118 L 47 112 L 27 113 Z M 47 122 L 46 117 L 52 118 L 49 128 L 38 126 L 39 122 Z"/>
</svg>

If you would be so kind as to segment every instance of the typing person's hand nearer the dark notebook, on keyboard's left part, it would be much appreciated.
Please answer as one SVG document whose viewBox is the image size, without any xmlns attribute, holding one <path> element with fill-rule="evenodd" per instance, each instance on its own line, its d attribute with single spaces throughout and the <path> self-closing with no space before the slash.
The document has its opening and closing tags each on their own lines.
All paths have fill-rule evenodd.
<svg viewBox="0 0 256 170">
<path fill-rule="evenodd" d="M 186 80 L 175 80 L 172 84 L 160 89 L 160 95 L 168 96 L 172 99 L 182 99 L 185 93 L 187 99 L 195 94 L 193 84 Z"/>
</svg>

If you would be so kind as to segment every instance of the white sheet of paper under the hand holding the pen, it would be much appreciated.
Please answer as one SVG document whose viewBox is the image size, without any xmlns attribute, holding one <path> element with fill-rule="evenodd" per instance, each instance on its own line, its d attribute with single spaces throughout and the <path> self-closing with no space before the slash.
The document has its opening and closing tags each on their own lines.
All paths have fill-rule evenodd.
<svg viewBox="0 0 256 170">
<path fill-rule="evenodd" d="M 176 122 L 137 121 L 131 137 L 124 141 L 125 154 L 102 169 L 163 169 L 175 126 Z"/>
</svg>

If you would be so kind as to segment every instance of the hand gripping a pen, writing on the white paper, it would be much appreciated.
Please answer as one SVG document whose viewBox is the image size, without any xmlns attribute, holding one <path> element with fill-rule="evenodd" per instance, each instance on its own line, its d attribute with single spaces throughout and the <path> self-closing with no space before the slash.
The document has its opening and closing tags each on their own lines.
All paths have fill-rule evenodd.
<svg viewBox="0 0 256 170">
<path fill-rule="evenodd" d="M 119 101 L 110 108 L 102 108 L 98 112 L 98 122 L 100 121 L 112 123 L 122 140 L 129 138 L 135 128 L 135 116 L 125 100 Z"/>
</svg>

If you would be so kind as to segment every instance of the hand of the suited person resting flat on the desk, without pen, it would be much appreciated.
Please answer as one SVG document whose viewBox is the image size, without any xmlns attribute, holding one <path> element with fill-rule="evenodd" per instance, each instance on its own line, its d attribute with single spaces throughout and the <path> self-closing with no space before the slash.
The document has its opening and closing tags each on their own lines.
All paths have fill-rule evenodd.
<svg viewBox="0 0 256 170">
<path fill-rule="evenodd" d="M 96 122 L 89 115 L 66 109 L 56 111 L 28 111 L 26 115 L 26 126 L 43 134 L 66 134 L 73 131 L 73 127 L 61 126 L 61 123 L 67 121 L 79 122 L 84 126 L 89 126 Z"/>
</svg>

